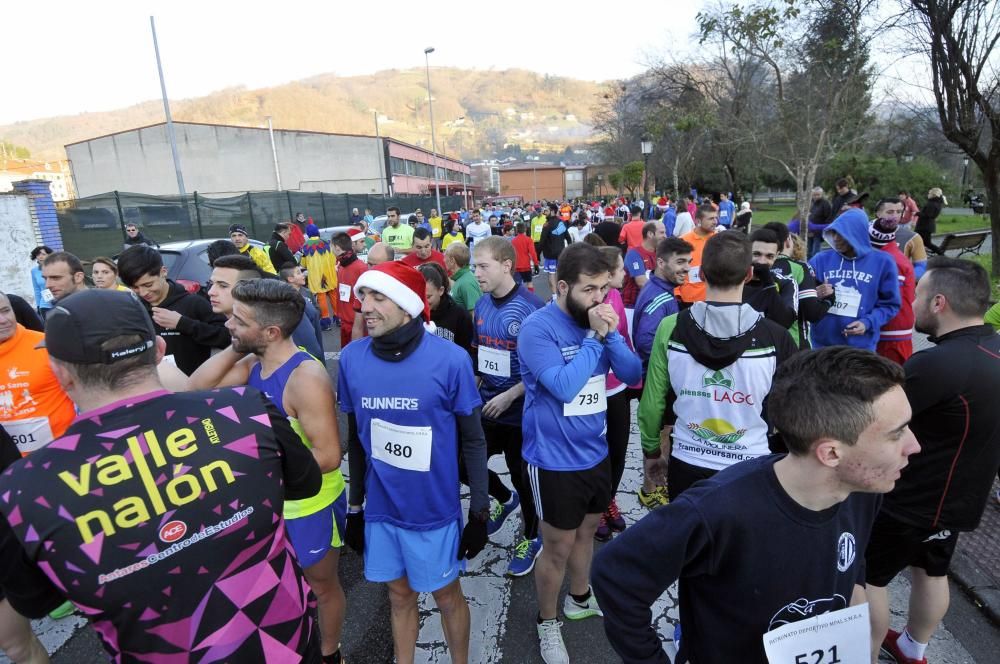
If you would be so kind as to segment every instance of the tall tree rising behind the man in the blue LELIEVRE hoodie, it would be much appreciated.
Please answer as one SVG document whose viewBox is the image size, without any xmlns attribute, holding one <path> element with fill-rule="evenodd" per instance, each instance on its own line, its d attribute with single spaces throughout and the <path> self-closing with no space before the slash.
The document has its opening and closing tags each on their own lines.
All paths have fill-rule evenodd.
<svg viewBox="0 0 1000 664">
<path fill-rule="evenodd" d="M 866 20 L 873 6 L 874 0 L 784 0 L 698 15 L 702 42 L 766 71 L 766 103 L 735 121 L 756 152 L 794 180 L 802 218 L 821 164 L 856 142 L 870 122 Z"/>
</svg>

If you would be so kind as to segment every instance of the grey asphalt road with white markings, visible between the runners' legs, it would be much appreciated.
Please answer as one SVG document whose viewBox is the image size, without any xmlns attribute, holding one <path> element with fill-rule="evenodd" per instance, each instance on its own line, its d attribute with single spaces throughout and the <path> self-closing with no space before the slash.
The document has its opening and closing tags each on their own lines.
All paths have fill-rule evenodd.
<svg viewBox="0 0 1000 664">
<path fill-rule="evenodd" d="M 539 294 L 547 288 L 539 285 Z M 326 334 L 328 349 L 336 349 L 339 335 Z M 338 353 L 327 353 L 327 366 L 335 379 Z M 346 422 L 341 422 L 346 433 Z M 641 458 L 638 434 L 633 425 L 628 467 L 619 490 L 618 500 L 629 523 L 642 518 L 635 491 L 640 482 Z M 343 436 L 342 433 L 342 436 Z M 346 474 L 346 464 L 345 474 Z M 506 469 L 502 457 L 494 457 L 491 467 L 498 472 Z M 508 579 L 503 576 L 511 555 L 514 538 L 520 527 L 517 514 L 492 538 L 490 544 L 469 565 L 462 579 L 472 610 L 473 662 L 534 663 L 538 655 L 534 618 L 537 612 L 533 577 Z M 600 546 L 600 545 L 598 545 Z M 388 597 L 383 586 L 364 580 L 361 560 L 349 550 L 341 559 L 341 580 L 347 593 L 347 621 L 343 635 L 343 651 L 351 664 L 384 664 L 391 662 L 392 637 L 389 623 Z M 903 621 L 906 611 L 908 581 L 898 578 L 891 586 L 893 625 Z M 997 661 L 1000 652 L 1000 628 L 954 584 L 952 603 L 944 625 L 938 630 L 927 652 L 935 664 L 987 664 Z M 654 622 L 670 652 L 672 623 L 677 615 L 676 588 L 670 589 L 654 606 Z M 107 661 L 92 629 L 79 617 L 62 621 L 38 621 L 36 633 L 54 653 L 55 664 L 86 664 Z M 591 618 L 580 622 L 566 621 L 563 635 L 573 661 L 617 661 L 604 636 L 602 621 Z M 0 658 L 0 662 L 7 660 Z M 444 649 L 440 621 L 430 596 L 421 600 L 418 662 L 450 661 Z"/>
</svg>

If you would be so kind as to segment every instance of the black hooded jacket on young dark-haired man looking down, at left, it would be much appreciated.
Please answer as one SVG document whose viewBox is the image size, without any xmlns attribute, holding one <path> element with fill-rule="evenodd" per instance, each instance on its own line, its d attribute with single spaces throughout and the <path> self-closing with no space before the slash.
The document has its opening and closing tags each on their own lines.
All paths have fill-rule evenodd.
<svg viewBox="0 0 1000 664">
<path fill-rule="evenodd" d="M 170 279 L 167 279 L 167 284 L 167 297 L 156 306 L 176 311 L 181 319 L 173 330 L 160 327 L 155 322 L 153 327 L 167 342 L 166 354 L 173 355 L 177 368 L 190 376 L 209 358 L 213 348 L 226 348 L 233 339 L 226 329 L 226 317 L 214 313 L 208 300 L 188 293 L 183 286 Z M 146 309 L 149 308 L 146 304 Z"/>
</svg>

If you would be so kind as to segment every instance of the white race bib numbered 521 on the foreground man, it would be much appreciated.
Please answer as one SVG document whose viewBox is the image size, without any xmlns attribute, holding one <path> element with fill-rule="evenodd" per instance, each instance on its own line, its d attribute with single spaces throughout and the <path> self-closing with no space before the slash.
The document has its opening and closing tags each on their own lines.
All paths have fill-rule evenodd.
<svg viewBox="0 0 1000 664">
<path fill-rule="evenodd" d="M 853 664 L 871 658 L 868 604 L 782 625 L 764 634 L 770 664 Z"/>
</svg>

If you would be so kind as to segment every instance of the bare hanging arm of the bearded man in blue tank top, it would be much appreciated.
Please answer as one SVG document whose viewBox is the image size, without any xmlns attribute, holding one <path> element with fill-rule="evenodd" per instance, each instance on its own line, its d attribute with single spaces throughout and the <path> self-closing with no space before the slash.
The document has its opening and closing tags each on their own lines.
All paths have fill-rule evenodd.
<svg viewBox="0 0 1000 664">
<path fill-rule="evenodd" d="M 297 366 L 285 384 L 285 397 L 285 411 L 299 421 L 319 469 L 329 473 L 340 468 L 337 400 L 326 369 L 319 362 Z"/>
</svg>

